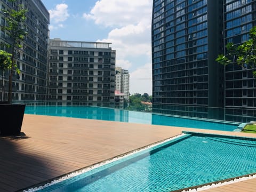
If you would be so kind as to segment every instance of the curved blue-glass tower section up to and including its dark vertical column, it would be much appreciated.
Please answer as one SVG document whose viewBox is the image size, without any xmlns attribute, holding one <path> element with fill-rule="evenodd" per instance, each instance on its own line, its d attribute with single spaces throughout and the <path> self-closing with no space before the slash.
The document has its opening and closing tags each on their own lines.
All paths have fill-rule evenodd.
<svg viewBox="0 0 256 192">
<path fill-rule="evenodd" d="M 222 1 L 154 0 L 153 111 L 224 106 L 224 68 L 215 61 L 223 50 L 222 9 Z"/>
</svg>

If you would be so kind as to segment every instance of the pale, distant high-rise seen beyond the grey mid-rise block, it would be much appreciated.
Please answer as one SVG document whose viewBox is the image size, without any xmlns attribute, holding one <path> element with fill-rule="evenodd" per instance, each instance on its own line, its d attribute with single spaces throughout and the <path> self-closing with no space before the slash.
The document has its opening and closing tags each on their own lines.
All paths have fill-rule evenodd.
<svg viewBox="0 0 256 192">
<path fill-rule="evenodd" d="M 130 74 L 126 69 L 116 67 L 116 82 L 115 89 L 121 93 L 124 93 L 124 99 L 129 102 L 130 94 Z"/>
</svg>

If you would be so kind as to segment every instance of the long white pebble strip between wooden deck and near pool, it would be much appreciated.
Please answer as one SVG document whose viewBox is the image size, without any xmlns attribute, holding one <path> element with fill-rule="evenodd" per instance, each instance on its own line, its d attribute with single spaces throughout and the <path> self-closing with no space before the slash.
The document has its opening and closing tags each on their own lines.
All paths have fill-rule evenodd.
<svg viewBox="0 0 256 192">
<path fill-rule="evenodd" d="M 56 183 L 59 183 L 59 182 L 61 182 L 61 181 L 64 181 L 64 180 L 73 178 L 73 177 L 75 177 L 75 176 L 77 176 L 77 175 L 79 175 L 79 174 L 85 173 L 85 172 L 90 171 L 90 170 L 92 170 L 92 169 L 98 168 L 98 167 L 100 167 L 100 166 L 106 165 L 106 164 L 111 163 L 111 162 L 115 162 L 115 161 L 117 161 L 118 159 L 122 159 L 122 158 L 128 157 L 128 156 L 133 155 L 133 154 L 135 154 L 135 153 L 138 153 L 138 152 L 140 152 L 140 151 L 143 151 L 143 150 L 146 150 L 146 149 L 155 147 L 155 146 L 157 146 L 157 145 L 161 145 L 162 143 L 171 141 L 171 140 L 173 140 L 173 139 L 177 139 L 177 138 L 179 138 L 179 137 L 182 137 L 183 135 L 186 135 L 186 134 L 185 134 L 185 133 L 181 133 L 180 135 L 177 135 L 177 136 L 175 136 L 175 137 L 166 139 L 166 140 L 161 141 L 161 142 L 157 142 L 157 143 L 155 143 L 155 144 L 153 144 L 153 145 L 149 145 L 149 146 L 147 146 L 147 147 L 144 147 L 144 148 L 141 148 L 141 149 L 138 149 L 138 150 L 134 150 L 134 151 L 132 151 L 131 153 L 125 154 L 125 155 L 123 155 L 123 156 L 121 156 L 121 157 L 115 157 L 115 158 L 110 159 L 110 160 L 108 160 L 108 161 L 106 161 L 106 162 L 98 163 L 98 164 L 92 165 L 92 166 L 90 166 L 90 167 L 86 167 L 85 169 L 72 172 L 72 173 L 70 173 L 70 174 L 67 174 L 67 175 L 63 176 L 63 177 L 60 178 L 60 179 L 56 179 L 56 180 L 53 180 L 53 181 L 51 181 L 51 182 L 49 182 L 49 183 L 46 183 L 46 184 L 43 185 L 43 186 L 35 187 L 35 188 L 30 188 L 30 189 L 28 189 L 28 190 L 23 190 L 23 192 L 34 192 L 34 191 L 38 191 L 38 190 L 44 189 L 44 188 L 46 188 L 46 187 L 49 187 L 49 186 L 52 186 L 52 185 L 54 185 L 54 184 L 56 184 Z"/>
</svg>

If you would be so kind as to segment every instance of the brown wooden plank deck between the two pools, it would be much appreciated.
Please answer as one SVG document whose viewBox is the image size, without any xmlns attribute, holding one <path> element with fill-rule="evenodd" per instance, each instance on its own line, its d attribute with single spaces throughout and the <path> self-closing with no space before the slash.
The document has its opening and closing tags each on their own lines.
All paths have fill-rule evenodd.
<svg viewBox="0 0 256 192">
<path fill-rule="evenodd" d="M 25 135 L 0 138 L 0 191 L 22 190 L 173 137 L 182 130 L 256 137 L 245 133 L 25 115 L 22 125 Z M 206 191 L 253 189 L 256 179 Z"/>
</svg>

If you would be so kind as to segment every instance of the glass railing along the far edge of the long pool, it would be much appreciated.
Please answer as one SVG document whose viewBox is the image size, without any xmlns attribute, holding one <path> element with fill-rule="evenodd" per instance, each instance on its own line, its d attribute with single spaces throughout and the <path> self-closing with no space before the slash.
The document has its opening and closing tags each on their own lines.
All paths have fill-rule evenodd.
<svg viewBox="0 0 256 192">
<path fill-rule="evenodd" d="M 86 106 L 88 101 L 62 102 L 50 101 L 13 101 L 13 103 L 25 103 L 27 106 Z M 108 107 L 108 106 L 103 106 Z M 147 105 L 126 103 L 117 107 L 121 110 L 141 111 L 170 116 L 182 116 L 187 118 L 211 119 L 214 121 L 226 121 L 246 123 L 256 121 L 256 109 L 254 108 L 212 108 L 201 106 L 177 106 L 177 105 Z"/>
</svg>

